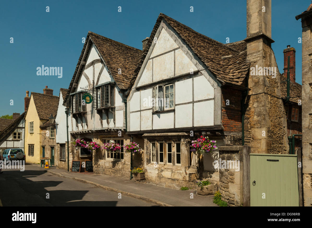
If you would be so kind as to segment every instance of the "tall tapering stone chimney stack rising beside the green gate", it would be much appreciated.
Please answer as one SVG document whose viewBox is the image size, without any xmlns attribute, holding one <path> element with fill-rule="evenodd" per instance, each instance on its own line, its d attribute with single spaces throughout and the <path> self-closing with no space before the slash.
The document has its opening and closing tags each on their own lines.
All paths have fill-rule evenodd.
<svg viewBox="0 0 312 228">
<path fill-rule="evenodd" d="M 244 138 L 251 153 L 288 152 L 287 120 L 280 99 L 280 73 L 271 48 L 271 0 L 247 0 L 247 61 L 250 67 L 273 67 L 276 75 L 250 70 L 245 100 Z M 278 134 L 277 134 L 278 133 Z"/>
</svg>

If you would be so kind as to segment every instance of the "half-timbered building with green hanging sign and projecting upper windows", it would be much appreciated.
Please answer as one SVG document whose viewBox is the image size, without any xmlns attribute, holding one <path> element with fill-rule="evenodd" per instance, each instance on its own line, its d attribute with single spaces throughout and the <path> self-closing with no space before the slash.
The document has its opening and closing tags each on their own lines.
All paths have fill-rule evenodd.
<svg viewBox="0 0 312 228">
<path fill-rule="evenodd" d="M 130 142 L 131 138 L 125 134 L 127 100 L 124 93 L 141 54 L 139 49 L 89 31 L 63 102 L 70 109 L 70 140 L 82 138 L 101 146 L 111 139 L 121 146 Z M 92 102 L 83 99 L 85 93 L 93 96 Z M 70 151 L 73 160 L 92 160 L 96 173 L 129 176 L 130 155 L 123 149 L 86 154 L 71 147 Z M 134 157 L 134 165 L 142 166 L 141 160 L 141 155 Z"/>
</svg>

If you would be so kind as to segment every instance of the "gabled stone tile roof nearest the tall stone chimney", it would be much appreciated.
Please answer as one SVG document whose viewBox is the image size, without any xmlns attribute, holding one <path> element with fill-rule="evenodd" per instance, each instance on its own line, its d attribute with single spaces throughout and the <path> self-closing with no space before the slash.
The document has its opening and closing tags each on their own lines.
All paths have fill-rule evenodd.
<svg viewBox="0 0 312 228">
<path fill-rule="evenodd" d="M 131 86 L 134 84 L 135 78 L 139 73 L 162 20 L 165 20 L 177 32 L 220 82 L 234 85 L 241 85 L 243 83 L 250 66 L 250 63 L 246 61 L 247 52 L 245 41 L 228 45 L 222 44 L 160 13 L 130 82 Z"/>
</svg>

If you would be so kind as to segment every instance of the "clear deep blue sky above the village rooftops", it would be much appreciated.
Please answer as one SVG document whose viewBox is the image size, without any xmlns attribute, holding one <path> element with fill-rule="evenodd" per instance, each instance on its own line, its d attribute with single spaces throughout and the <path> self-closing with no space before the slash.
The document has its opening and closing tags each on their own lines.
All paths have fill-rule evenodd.
<svg viewBox="0 0 312 228">
<path fill-rule="evenodd" d="M 295 16 L 310 3 L 272 1 L 272 48 L 279 71 L 283 72 L 283 49 L 290 44 L 296 49 L 296 82 L 300 84 L 298 37 L 302 29 Z M 230 42 L 246 38 L 246 0 L 2 1 L 0 116 L 22 113 L 26 90 L 42 93 L 48 86 L 58 96 L 60 88 L 68 88 L 83 47 L 82 37 L 89 30 L 142 49 L 141 41 L 149 37 L 160 12 L 222 43 L 227 37 Z M 62 78 L 37 76 L 41 65 L 62 67 Z"/>
</svg>

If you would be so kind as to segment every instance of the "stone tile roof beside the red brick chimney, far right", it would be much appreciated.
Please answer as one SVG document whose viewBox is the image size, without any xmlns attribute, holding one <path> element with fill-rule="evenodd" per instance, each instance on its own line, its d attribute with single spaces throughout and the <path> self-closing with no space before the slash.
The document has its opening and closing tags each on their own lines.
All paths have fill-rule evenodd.
<svg viewBox="0 0 312 228">
<path fill-rule="evenodd" d="M 280 76 L 280 95 L 282 98 L 285 98 L 287 96 L 287 77 L 284 75 Z M 290 82 L 289 86 L 289 96 L 290 96 L 290 101 L 294 103 L 298 103 L 298 100 L 301 100 L 302 98 L 302 86 L 295 82 L 292 83 Z"/>
</svg>

